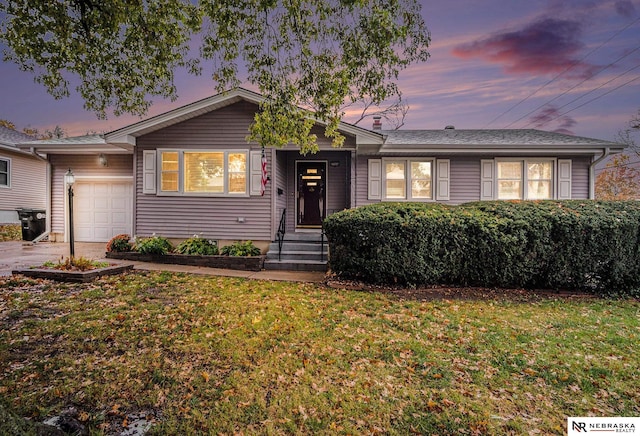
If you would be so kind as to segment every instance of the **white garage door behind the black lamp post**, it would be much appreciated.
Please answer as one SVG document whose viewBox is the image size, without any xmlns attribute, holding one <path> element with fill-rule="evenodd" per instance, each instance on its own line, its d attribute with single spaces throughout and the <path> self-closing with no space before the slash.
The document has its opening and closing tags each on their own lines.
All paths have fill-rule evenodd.
<svg viewBox="0 0 640 436">
<path fill-rule="evenodd" d="M 76 241 L 107 242 L 120 233 L 131 234 L 133 183 L 78 182 L 73 192 Z"/>
</svg>

